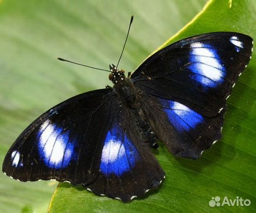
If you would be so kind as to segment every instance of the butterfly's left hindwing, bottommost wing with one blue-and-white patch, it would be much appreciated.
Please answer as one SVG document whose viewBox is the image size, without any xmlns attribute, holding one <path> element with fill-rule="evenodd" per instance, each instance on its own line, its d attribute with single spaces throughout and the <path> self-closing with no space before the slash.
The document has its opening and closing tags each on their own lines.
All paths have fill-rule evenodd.
<svg viewBox="0 0 256 213">
<path fill-rule="evenodd" d="M 116 106 L 101 155 L 100 173 L 88 189 L 100 195 L 131 201 L 156 189 L 164 171 L 136 127 L 138 119 L 127 107 Z"/>
</svg>

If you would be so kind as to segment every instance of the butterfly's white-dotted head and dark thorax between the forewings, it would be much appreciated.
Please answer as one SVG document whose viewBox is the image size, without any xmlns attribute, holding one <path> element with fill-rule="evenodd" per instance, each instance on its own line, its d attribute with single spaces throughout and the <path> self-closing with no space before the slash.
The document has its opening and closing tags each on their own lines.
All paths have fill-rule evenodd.
<svg viewBox="0 0 256 213">
<path fill-rule="evenodd" d="M 114 91 L 116 91 L 122 103 L 133 108 L 136 100 L 136 89 L 132 80 L 125 76 L 124 70 L 117 69 L 113 64 L 109 67 L 111 74 L 108 78 L 114 83 Z"/>
</svg>

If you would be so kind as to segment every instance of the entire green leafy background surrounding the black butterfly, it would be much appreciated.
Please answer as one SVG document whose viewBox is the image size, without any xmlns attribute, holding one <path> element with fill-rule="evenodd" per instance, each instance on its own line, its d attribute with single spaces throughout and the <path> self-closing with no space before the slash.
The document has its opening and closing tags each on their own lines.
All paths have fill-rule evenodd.
<svg viewBox="0 0 256 213">
<path fill-rule="evenodd" d="M 108 69 L 116 63 L 130 16 L 120 67 L 133 71 L 203 8 L 206 0 L 0 0 L 0 164 L 12 142 L 50 107 L 104 88 L 108 73 L 56 60 L 63 57 Z M 254 0 L 213 0 L 169 40 L 213 31 L 256 35 Z M 228 99 L 224 137 L 197 161 L 176 159 L 161 145 L 156 157 L 167 178 L 156 192 L 123 204 L 60 184 L 51 212 L 240 212 L 256 210 L 256 63 Z M 0 212 L 46 212 L 57 182 L 21 183 L 0 174 Z M 209 207 L 214 196 L 250 199 L 249 207 Z M 218 209 L 219 208 L 219 209 Z"/>
</svg>

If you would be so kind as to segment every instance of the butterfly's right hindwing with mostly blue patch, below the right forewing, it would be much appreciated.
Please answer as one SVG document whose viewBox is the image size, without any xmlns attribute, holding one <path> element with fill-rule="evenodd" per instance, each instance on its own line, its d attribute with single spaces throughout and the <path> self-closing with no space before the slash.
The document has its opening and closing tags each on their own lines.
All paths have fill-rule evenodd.
<svg viewBox="0 0 256 213">
<path fill-rule="evenodd" d="M 173 100 L 144 95 L 143 110 L 168 150 L 180 157 L 199 158 L 221 138 L 225 108 L 215 117 L 205 117 Z"/>
</svg>

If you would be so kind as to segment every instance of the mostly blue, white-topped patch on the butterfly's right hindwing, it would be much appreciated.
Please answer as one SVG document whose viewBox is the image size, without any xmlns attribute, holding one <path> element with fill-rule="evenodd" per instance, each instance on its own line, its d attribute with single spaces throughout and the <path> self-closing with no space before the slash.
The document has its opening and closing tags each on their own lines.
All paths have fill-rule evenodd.
<svg viewBox="0 0 256 213">
<path fill-rule="evenodd" d="M 204 117 L 176 101 L 160 99 L 169 121 L 178 132 L 189 131 L 204 122 Z"/>
</svg>

